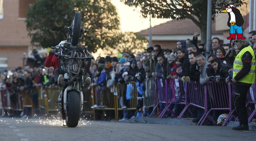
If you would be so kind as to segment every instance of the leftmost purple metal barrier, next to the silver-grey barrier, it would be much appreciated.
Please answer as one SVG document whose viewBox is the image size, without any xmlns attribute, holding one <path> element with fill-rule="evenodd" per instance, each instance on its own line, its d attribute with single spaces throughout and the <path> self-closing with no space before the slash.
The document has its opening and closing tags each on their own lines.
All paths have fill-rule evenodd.
<svg viewBox="0 0 256 141">
<path fill-rule="evenodd" d="M 157 95 L 158 95 L 158 102 L 157 102 Z M 159 108 L 158 106 L 160 106 L 160 103 L 166 103 L 166 105 L 168 103 L 167 80 L 162 80 L 162 79 L 156 78 L 155 103 L 157 103 L 157 104 L 149 117 L 151 117 L 154 114 L 154 112 L 156 111 L 156 109 Z M 159 115 L 159 117 L 160 116 L 161 116 L 161 114 Z"/>
</svg>

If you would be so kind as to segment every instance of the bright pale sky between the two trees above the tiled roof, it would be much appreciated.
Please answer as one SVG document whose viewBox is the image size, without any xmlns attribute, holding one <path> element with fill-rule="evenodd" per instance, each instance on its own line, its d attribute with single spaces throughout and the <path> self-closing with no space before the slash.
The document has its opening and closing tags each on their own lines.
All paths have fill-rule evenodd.
<svg viewBox="0 0 256 141">
<path fill-rule="evenodd" d="M 149 28 L 149 18 L 145 19 L 141 16 L 140 8 L 135 10 L 135 7 L 129 7 L 120 0 L 111 0 L 111 2 L 116 6 L 121 23 L 120 27 L 123 32 L 138 32 Z M 169 20 L 171 19 L 152 19 L 151 26 L 153 27 Z"/>
</svg>

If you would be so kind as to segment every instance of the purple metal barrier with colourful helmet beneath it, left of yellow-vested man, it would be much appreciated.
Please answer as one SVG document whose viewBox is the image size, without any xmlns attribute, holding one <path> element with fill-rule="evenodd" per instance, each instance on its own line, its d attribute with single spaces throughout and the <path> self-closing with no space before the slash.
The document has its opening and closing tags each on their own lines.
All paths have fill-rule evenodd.
<svg viewBox="0 0 256 141">
<path fill-rule="evenodd" d="M 204 96 L 204 119 L 200 125 L 204 124 L 206 118 L 209 118 L 213 123 L 215 123 L 210 115 L 211 111 L 229 110 L 230 113 L 232 112 L 231 93 L 228 92 L 229 90 L 227 88 L 228 84 L 226 84 L 226 82 L 209 82 L 206 84 Z M 206 91 L 208 91 L 208 94 Z M 208 106 L 210 106 L 209 109 Z"/>
</svg>

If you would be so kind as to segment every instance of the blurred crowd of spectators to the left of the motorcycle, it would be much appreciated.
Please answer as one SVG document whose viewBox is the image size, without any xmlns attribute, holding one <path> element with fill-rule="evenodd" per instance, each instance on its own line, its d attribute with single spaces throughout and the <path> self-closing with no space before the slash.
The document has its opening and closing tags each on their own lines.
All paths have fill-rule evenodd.
<svg viewBox="0 0 256 141">
<path fill-rule="evenodd" d="M 24 68 L 18 67 L 0 73 L 1 117 L 30 117 L 31 107 L 25 107 L 25 112 L 22 112 L 22 104 L 25 102 L 24 97 L 28 94 L 30 94 L 33 102 L 35 114 L 40 114 L 37 89 L 41 86 L 47 88 L 55 85 L 53 67 L 47 68 L 44 66 L 47 54 L 39 54 L 34 49 L 32 55 L 34 58 L 27 58 L 27 60 L 34 67 L 26 65 Z"/>
</svg>

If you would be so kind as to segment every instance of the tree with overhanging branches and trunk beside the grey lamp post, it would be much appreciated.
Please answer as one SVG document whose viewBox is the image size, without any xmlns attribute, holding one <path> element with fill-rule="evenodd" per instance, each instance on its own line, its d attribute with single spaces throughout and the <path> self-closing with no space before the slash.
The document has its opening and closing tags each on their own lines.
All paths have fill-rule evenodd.
<svg viewBox="0 0 256 141">
<path fill-rule="evenodd" d="M 206 41 L 207 0 L 121 0 L 127 5 L 141 7 L 143 17 L 172 18 L 177 20 L 191 19 L 201 30 L 201 43 Z M 212 0 L 212 20 L 215 15 L 233 4 L 246 4 L 243 0 Z M 189 26 L 189 25 L 188 25 Z"/>
</svg>

